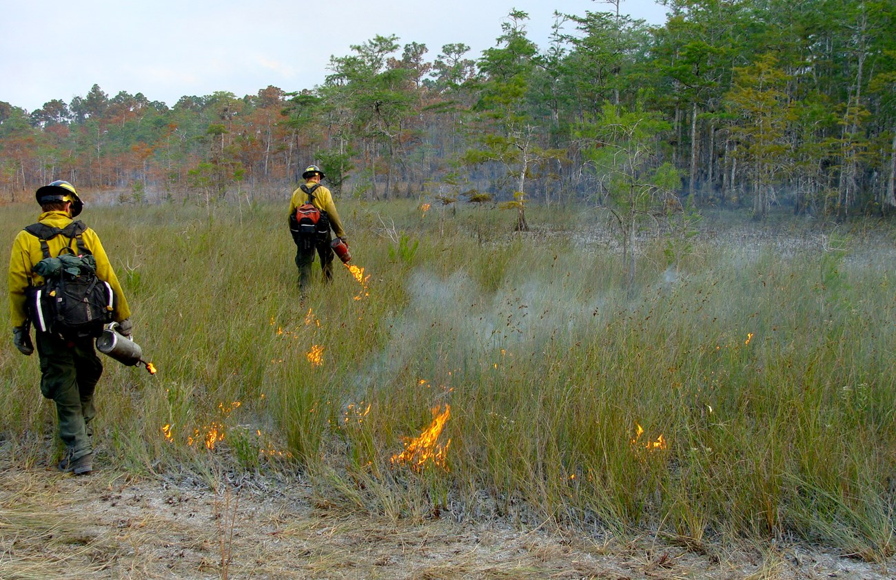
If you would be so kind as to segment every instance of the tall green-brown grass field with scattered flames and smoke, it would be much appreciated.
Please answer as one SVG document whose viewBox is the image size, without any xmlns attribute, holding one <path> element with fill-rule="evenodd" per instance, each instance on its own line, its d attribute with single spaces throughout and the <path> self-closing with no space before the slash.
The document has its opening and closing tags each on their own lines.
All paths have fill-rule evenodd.
<svg viewBox="0 0 896 580">
<path fill-rule="evenodd" d="M 631 289 L 587 212 L 527 235 L 490 209 L 340 212 L 366 293 L 337 261 L 306 303 L 280 205 L 85 213 L 159 368 L 106 361 L 104 461 L 299 469 L 330 501 L 396 517 L 896 547 L 892 254 L 849 260 L 845 236 L 784 254 L 695 242 L 673 272 L 659 240 Z M 7 247 L 35 213 L 4 209 Z M 0 357 L 6 448 L 48 462 L 37 362 Z M 393 465 L 444 405 L 448 469 Z"/>
</svg>

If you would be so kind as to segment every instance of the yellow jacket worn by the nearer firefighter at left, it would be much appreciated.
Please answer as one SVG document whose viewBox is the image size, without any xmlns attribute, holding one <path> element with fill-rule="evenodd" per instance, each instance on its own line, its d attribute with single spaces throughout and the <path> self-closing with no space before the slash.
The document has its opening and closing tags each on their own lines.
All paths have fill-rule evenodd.
<svg viewBox="0 0 896 580">
<path fill-rule="evenodd" d="M 39 222 L 50 227 L 63 228 L 72 223 L 73 219 L 69 217 L 65 211 L 47 211 L 40 214 Z M 112 264 L 106 256 L 103 244 L 99 242 L 99 236 L 96 232 L 88 227 L 82 234 L 82 240 L 87 249 L 93 254 L 97 260 L 97 277 L 108 282 L 112 286 L 115 293 L 115 316 L 116 322 L 121 322 L 131 317 L 131 309 L 127 306 L 125 293 L 118 284 L 118 278 L 112 269 Z M 51 240 L 47 240 L 50 256 L 56 257 L 59 251 L 68 244 L 70 240 L 65 235 L 57 235 Z M 77 252 L 77 243 L 71 240 L 72 248 Z M 13 253 L 9 259 L 9 318 L 13 323 L 13 327 L 22 326 L 28 320 L 28 312 L 25 309 L 27 296 L 25 292 L 28 290 L 29 279 L 32 286 L 43 284 L 43 277 L 31 272 L 34 265 L 44 259 L 44 253 L 40 250 L 40 240 L 37 236 L 30 235 L 22 230 L 19 235 L 15 236 L 13 242 Z"/>
</svg>

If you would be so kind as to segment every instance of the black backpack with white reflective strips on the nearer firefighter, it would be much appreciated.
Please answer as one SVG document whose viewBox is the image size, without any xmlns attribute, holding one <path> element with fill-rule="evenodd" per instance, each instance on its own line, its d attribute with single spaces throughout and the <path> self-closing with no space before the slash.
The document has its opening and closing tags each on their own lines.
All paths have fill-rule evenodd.
<svg viewBox="0 0 896 580">
<path fill-rule="evenodd" d="M 32 271 L 44 278 L 44 284 L 29 289 L 28 309 L 31 322 L 39 332 L 52 332 L 65 338 L 99 337 L 112 322 L 115 293 L 112 286 L 97 277 L 97 260 L 82 234 L 87 226 L 76 221 L 65 228 L 32 224 L 25 228 L 40 240 L 44 259 Z M 50 256 L 47 240 L 56 235 L 69 239 L 56 258 Z M 77 244 L 77 252 L 72 248 Z"/>
</svg>

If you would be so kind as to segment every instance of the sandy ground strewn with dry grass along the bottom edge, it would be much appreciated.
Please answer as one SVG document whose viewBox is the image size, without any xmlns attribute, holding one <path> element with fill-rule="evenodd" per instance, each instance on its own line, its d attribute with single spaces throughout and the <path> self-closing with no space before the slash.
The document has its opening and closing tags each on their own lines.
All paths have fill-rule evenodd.
<svg viewBox="0 0 896 580">
<path fill-rule="evenodd" d="M 217 492 L 111 469 L 74 477 L 0 458 L 0 578 L 892 578 L 803 545 L 687 550 L 652 537 L 597 540 L 544 525 L 351 513 L 310 486 Z M 224 486 L 221 486 L 222 488 Z"/>
</svg>

